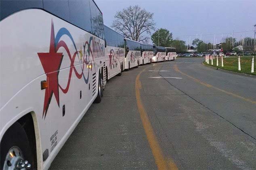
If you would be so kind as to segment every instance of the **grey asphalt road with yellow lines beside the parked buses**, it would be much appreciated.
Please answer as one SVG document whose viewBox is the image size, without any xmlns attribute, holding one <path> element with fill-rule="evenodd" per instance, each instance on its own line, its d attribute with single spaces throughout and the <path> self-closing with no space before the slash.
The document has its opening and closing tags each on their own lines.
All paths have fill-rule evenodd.
<svg viewBox="0 0 256 170">
<path fill-rule="evenodd" d="M 109 80 L 50 169 L 256 169 L 256 78 L 201 61 Z"/>
</svg>

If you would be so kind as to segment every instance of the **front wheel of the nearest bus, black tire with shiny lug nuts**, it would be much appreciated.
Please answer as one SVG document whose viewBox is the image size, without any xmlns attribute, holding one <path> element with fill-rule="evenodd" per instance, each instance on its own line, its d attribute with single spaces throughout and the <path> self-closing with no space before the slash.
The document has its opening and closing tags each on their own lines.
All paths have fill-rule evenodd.
<svg viewBox="0 0 256 170">
<path fill-rule="evenodd" d="M 29 145 L 27 133 L 15 122 L 4 134 L 0 144 L 0 169 L 36 169 L 36 157 Z M 34 166 L 33 166 L 34 165 Z"/>
</svg>

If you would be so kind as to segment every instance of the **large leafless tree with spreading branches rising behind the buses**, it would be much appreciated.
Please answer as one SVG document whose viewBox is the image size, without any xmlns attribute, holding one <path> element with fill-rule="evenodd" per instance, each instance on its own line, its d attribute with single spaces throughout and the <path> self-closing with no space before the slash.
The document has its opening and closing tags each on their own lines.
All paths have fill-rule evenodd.
<svg viewBox="0 0 256 170">
<path fill-rule="evenodd" d="M 155 29 L 153 13 L 141 9 L 138 5 L 118 11 L 114 17 L 111 27 L 134 41 L 147 42 L 147 34 L 151 34 Z"/>
</svg>

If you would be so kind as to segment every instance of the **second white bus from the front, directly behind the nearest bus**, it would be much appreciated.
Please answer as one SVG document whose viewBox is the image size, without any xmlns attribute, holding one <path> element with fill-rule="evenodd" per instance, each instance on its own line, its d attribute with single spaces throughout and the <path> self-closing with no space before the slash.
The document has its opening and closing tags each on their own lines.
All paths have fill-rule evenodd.
<svg viewBox="0 0 256 170">
<path fill-rule="evenodd" d="M 104 25 L 107 80 L 115 75 L 121 76 L 124 69 L 124 36 Z"/>
</svg>

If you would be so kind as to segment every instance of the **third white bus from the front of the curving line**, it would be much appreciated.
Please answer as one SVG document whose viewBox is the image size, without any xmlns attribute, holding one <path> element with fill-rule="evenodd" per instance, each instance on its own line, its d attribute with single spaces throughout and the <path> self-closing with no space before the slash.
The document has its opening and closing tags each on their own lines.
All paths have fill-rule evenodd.
<svg viewBox="0 0 256 170">
<path fill-rule="evenodd" d="M 137 41 L 124 39 L 125 42 L 125 70 L 138 67 L 141 57 L 141 44 Z"/>
</svg>

